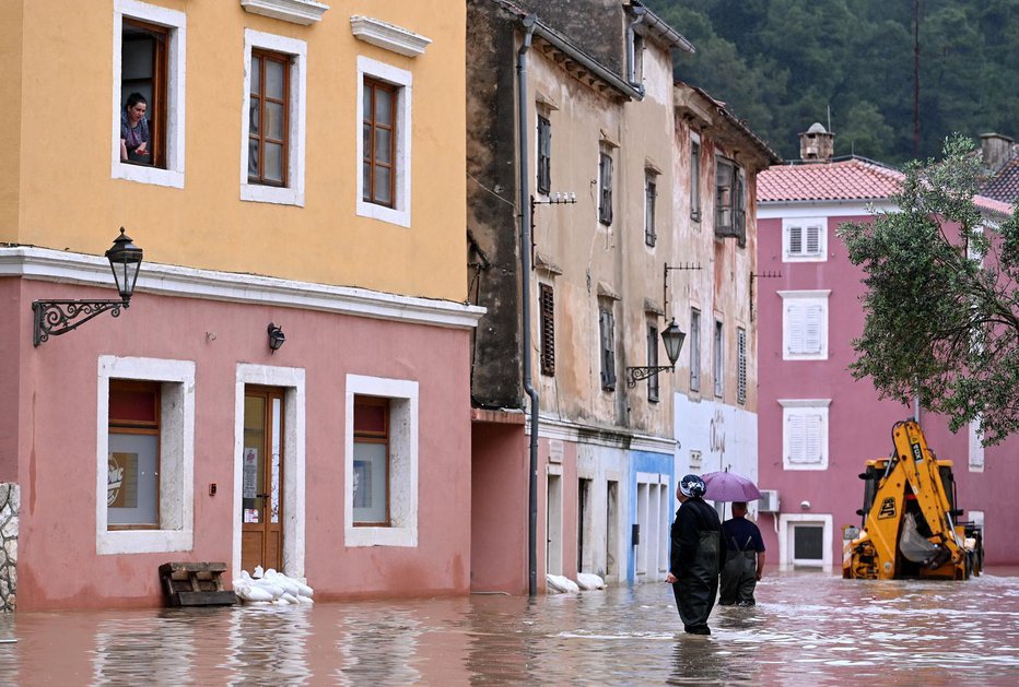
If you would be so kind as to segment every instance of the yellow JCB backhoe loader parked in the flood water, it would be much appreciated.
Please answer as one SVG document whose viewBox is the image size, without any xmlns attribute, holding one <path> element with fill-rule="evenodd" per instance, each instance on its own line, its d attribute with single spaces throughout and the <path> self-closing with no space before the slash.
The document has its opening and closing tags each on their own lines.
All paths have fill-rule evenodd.
<svg viewBox="0 0 1019 687">
<path fill-rule="evenodd" d="M 889 458 L 867 461 L 860 528 L 844 525 L 842 577 L 866 580 L 980 575 L 981 526 L 958 522 L 951 461 L 939 461 L 914 421 L 895 423 Z"/>
</svg>

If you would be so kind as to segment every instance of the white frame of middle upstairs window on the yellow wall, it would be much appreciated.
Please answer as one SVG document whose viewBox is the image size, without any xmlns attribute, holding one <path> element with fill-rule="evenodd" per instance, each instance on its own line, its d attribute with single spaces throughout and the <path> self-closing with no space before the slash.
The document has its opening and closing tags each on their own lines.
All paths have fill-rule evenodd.
<svg viewBox="0 0 1019 687">
<path fill-rule="evenodd" d="M 248 181 L 248 132 L 251 107 L 251 49 L 269 50 L 292 58 L 290 64 L 290 111 L 286 131 L 286 186 Z M 244 93 L 241 106 L 241 200 L 304 206 L 304 156 L 307 112 L 307 44 L 304 40 L 244 29 Z"/>
</svg>

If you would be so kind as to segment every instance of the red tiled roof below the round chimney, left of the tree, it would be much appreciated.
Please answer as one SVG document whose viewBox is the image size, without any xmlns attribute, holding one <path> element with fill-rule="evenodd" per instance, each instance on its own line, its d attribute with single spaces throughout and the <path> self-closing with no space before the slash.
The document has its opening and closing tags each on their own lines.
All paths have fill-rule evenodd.
<svg viewBox="0 0 1019 687">
<path fill-rule="evenodd" d="M 758 202 L 878 200 L 899 190 L 904 175 L 854 157 L 831 163 L 775 165 L 758 175 Z"/>
</svg>

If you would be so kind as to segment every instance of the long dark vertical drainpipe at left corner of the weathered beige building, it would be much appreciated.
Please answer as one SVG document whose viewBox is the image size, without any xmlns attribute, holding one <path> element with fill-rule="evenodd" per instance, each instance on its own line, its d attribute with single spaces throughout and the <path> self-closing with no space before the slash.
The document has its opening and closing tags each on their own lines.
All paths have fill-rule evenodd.
<svg viewBox="0 0 1019 687">
<path fill-rule="evenodd" d="M 538 17 L 528 14 L 524 17 L 524 43 L 517 52 L 517 105 L 520 151 L 520 291 L 524 294 L 522 307 L 524 318 L 524 391 L 530 396 L 530 464 L 528 484 L 528 581 L 527 593 L 530 596 L 538 594 L 538 391 L 531 384 L 530 360 L 530 170 L 527 159 L 527 50 L 530 49 L 531 37 Z"/>
</svg>

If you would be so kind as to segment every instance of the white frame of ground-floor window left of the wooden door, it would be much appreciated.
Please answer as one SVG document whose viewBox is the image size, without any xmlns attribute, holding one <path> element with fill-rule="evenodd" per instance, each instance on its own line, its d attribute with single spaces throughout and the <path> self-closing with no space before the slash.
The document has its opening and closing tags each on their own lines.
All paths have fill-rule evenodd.
<svg viewBox="0 0 1019 687">
<path fill-rule="evenodd" d="M 195 363 L 102 355 L 98 358 L 95 550 L 99 555 L 190 550 L 195 540 Z M 160 530 L 108 530 L 109 380 L 162 382 Z"/>
</svg>

